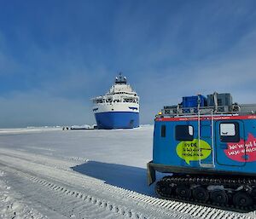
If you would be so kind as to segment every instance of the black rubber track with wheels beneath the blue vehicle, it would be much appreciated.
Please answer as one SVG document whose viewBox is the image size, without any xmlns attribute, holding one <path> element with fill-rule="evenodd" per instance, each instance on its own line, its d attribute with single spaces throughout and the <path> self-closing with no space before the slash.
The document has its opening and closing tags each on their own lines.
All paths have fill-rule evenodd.
<svg viewBox="0 0 256 219">
<path fill-rule="evenodd" d="M 155 185 L 161 199 L 172 199 L 224 210 L 256 210 L 255 178 L 165 176 Z"/>
</svg>

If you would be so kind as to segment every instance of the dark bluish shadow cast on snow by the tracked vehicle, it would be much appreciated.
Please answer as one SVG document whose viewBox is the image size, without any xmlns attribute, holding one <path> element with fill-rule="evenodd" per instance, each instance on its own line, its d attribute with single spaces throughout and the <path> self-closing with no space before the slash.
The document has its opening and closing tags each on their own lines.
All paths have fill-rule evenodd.
<svg viewBox="0 0 256 219">
<path fill-rule="evenodd" d="M 87 163 L 74 166 L 72 169 L 116 187 L 155 196 L 154 185 L 148 187 L 147 170 L 143 168 L 88 161 Z"/>
</svg>

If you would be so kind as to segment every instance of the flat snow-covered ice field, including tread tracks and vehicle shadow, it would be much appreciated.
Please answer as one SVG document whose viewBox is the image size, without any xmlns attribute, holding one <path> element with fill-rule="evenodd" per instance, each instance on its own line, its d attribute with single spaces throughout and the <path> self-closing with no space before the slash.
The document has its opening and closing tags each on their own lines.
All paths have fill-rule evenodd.
<svg viewBox="0 0 256 219">
<path fill-rule="evenodd" d="M 0 130 L 0 218 L 256 218 L 157 199 L 153 131 Z"/>
</svg>

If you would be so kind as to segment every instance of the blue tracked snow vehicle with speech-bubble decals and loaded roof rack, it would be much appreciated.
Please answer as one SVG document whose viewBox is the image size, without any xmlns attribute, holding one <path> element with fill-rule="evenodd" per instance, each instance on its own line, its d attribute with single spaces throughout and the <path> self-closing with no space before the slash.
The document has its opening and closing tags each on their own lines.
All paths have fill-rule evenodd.
<svg viewBox="0 0 256 219">
<path fill-rule="evenodd" d="M 162 199 L 238 211 L 256 210 L 256 104 L 237 104 L 230 94 L 187 96 L 154 120 L 155 183 Z"/>
</svg>

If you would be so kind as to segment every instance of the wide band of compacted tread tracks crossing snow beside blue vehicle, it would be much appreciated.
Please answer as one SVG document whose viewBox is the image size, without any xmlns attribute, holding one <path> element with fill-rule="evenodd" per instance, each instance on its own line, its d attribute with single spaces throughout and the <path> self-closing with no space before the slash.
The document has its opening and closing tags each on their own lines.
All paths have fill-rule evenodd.
<svg viewBox="0 0 256 219">
<path fill-rule="evenodd" d="M 255 213 L 246 215 L 156 199 L 114 187 L 90 176 L 73 172 L 69 169 L 73 162 L 68 163 L 58 158 L 5 149 L 1 149 L 0 154 L 2 168 L 10 175 L 16 175 L 17 181 L 28 181 L 35 190 L 54 194 L 55 199 L 63 200 L 63 205 L 72 204 L 71 208 L 64 209 L 55 202 L 50 205 L 67 217 L 93 218 L 99 214 L 97 218 L 255 218 Z M 47 204 L 47 199 L 45 202 Z"/>
</svg>

